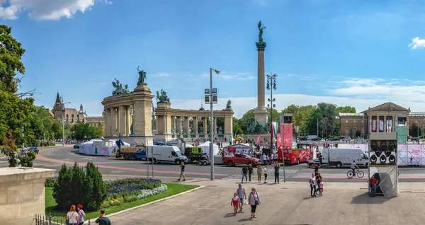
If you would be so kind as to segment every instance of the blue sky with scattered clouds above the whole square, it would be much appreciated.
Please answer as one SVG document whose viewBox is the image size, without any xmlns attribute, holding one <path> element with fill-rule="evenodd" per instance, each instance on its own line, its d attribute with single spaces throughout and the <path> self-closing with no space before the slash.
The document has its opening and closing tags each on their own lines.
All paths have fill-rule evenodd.
<svg viewBox="0 0 425 225">
<path fill-rule="evenodd" d="M 21 89 L 52 108 L 101 115 L 116 78 L 135 88 L 137 66 L 174 108 L 197 109 L 208 70 L 237 117 L 256 107 L 259 20 L 276 106 L 326 101 L 358 111 L 386 101 L 425 112 L 425 1 L 8 0 L 4 23 L 27 50 Z M 266 92 L 268 93 L 268 92 Z"/>
</svg>

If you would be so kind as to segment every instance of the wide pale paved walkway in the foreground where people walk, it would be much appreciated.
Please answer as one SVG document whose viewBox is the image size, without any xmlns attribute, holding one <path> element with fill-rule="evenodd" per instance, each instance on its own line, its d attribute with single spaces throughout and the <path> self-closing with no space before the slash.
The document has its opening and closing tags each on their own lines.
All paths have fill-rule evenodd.
<svg viewBox="0 0 425 225">
<path fill-rule="evenodd" d="M 399 197 L 368 197 L 366 183 L 325 183 L 323 197 L 310 198 L 307 182 L 244 184 L 261 198 L 256 219 L 250 207 L 233 217 L 236 180 L 188 180 L 204 188 L 145 207 L 111 215 L 113 224 L 422 224 L 424 183 L 399 183 Z M 106 212 L 108 213 L 108 212 Z"/>
</svg>

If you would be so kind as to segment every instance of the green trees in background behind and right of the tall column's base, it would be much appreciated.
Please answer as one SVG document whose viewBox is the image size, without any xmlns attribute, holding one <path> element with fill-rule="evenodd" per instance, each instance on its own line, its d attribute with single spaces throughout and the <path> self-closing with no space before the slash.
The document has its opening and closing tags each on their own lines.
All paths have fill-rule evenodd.
<svg viewBox="0 0 425 225">
<path fill-rule="evenodd" d="M 300 127 L 300 135 L 317 134 L 317 125 L 319 125 L 319 137 L 331 137 L 339 136 L 339 113 L 356 113 L 356 108 L 331 103 L 289 105 L 280 112 L 273 109 L 273 121 L 279 122 L 280 115 L 283 113 L 292 113 L 293 125 Z M 270 115 L 270 109 L 268 109 L 268 115 Z M 233 134 L 247 134 L 247 125 L 254 120 L 254 109 L 248 110 L 240 119 L 234 117 Z"/>
</svg>

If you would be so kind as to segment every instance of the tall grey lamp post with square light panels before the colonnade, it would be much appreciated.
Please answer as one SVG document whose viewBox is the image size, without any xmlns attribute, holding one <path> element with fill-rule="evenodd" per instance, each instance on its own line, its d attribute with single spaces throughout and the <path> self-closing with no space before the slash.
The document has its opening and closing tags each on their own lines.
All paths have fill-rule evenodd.
<svg viewBox="0 0 425 225">
<path fill-rule="evenodd" d="M 212 113 L 212 104 L 217 103 L 217 88 L 212 88 L 212 71 L 215 71 L 215 74 L 220 74 L 220 70 L 210 68 L 210 88 L 205 88 L 205 104 L 210 103 L 211 180 L 214 180 L 214 115 Z"/>
</svg>

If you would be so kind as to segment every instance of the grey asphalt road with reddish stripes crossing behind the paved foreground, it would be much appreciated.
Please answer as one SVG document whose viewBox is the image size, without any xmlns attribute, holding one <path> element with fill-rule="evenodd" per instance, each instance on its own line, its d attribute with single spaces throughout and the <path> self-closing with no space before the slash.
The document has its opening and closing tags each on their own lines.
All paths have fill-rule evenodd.
<svg viewBox="0 0 425 225">
<path fill-rule="evenodd" d="M 72 146 L 62 149 L 41 149 L 38 158 L 34 161 L 34 167 L 52 168 L 59 171 L 63 163 L 69 166 L 74 162 L 84 166 L 87 162 L 94 162 L 99 171 L 106 178 L 120 177 L 147 177 L 148 167 L 145 161 L 126 161 L 123 158 L 114 156 L 85 156 L 78 154 L 78 149 L 72 149 Z M 0 167 L 8 166 L 6 158 L 0 158 Z M 365 182 L 368 178 L 368 169 L 361 169 L 365 175 L 363 178 L 348 179 L 346 172 L 348 168 L 320 168 L 322 176 L 327 181 L 338 182 Z M 153 175 L 157 178 L 174 180 L 179 177 L 180 168 L 171 164 L 154 164 Z M 283 180 L 283 173 L 288 181 L 306 181 L 312 174 L 312 168 L 307 168 L 305 163 L 300 165 L 286 165 L 285 170 L 280 168 L 280 180 Z M 273 171 L 268 173 L 268 182 L 274 182 Z M 152 177 L 152 164 L 149 166 L 149 177 Z M 186 165 L 186 178 L 210 178 L 210 166 Z M 241 180 L 241 167 L 215 166 L 215 178 L 227 180 Z M 256 171 L 252 180 L 256 181 Z M 399 168 L 399 182 L 419 182 L 425 181 L 425 168 L 408 167 Z"/>
</svg>

